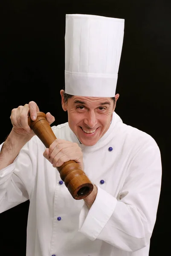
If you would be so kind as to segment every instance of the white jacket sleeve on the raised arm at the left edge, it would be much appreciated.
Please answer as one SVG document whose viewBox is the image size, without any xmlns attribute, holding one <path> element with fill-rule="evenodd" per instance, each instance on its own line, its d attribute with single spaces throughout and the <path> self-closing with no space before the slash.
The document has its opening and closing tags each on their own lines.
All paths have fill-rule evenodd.
<svg viewBox="0 0 171 256">
<path fill-rule="evenodd" d="M 30 140 L 14 162 L 0 170 L 0 212 L 29 200 L 35 178 L 36 148 L 35 140 Z"/>
</svg>

